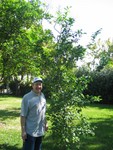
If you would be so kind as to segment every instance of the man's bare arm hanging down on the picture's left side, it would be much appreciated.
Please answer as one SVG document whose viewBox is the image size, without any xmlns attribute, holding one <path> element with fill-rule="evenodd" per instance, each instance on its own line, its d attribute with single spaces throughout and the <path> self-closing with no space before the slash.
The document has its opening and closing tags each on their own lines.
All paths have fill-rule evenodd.
<svg viewBox="0 0 113 150">
<path fill-rule="evenodd" d="M 20 117 L 20 124 L 21 124 L 21 136 L 23 141 L 25 141 L 25 139 L 27 138 L 26 129 L 25 129 L 26 117 L 24 116 Z"/>
</svg>

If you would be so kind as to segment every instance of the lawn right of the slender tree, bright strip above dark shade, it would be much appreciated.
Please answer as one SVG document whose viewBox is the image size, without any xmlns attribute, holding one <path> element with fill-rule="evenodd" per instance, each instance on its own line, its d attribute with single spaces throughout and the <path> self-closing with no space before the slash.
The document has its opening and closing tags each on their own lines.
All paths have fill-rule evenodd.
<svg viewBox="0 0 113 150">
<path fill-rule="evenodd" d="M 83 150 L 113 150 L 113 106 L 93 104 L 83 114 L 96 127 L 95 136 L 84 139 Z"/>
</svg>

